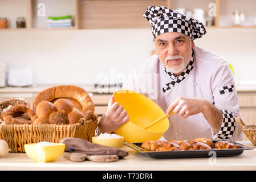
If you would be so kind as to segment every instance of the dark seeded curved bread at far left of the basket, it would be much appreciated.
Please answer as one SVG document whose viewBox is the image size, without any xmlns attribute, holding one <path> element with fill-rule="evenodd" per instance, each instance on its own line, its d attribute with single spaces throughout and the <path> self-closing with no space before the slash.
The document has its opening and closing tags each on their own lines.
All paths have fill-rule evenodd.
<svg viewBox="0 0 256 182">
<path fill-rule="evenodd" d="M 27 107 L 30 107 L 29 101 L 27 101 L 25 98 L 14 98 L 9 101 L 1 102 L 1 104 L 0 104 L 0 119 L 3 120 L 3 113 L 5 113 L 5 111 L 3 111 L 3 110 L 5 110 L 9 106 L 15 106 L 18 104 L 23 104 L 23 105 L 26 105 Z M 22 114 L 24 114 L 24 113 L 23 112 L 15 113 L 14 117 L 19 117 Z"/>
</svg>

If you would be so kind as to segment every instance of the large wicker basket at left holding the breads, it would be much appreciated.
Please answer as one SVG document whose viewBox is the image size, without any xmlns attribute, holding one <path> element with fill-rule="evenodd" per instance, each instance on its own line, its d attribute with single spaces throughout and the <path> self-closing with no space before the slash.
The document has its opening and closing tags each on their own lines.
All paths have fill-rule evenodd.
<svg viewBox="0 0 256 182">
<path fill-rule="evenodd" d="M 59 143 L 66 137 L 92 141 L 97 127 L 97 115 L 87 113 L 74 125 L 0 125 L 0 139 L 6 140 L 11 152 L 25 152 L 24 144 L 42 141 Z"/>
</svg>

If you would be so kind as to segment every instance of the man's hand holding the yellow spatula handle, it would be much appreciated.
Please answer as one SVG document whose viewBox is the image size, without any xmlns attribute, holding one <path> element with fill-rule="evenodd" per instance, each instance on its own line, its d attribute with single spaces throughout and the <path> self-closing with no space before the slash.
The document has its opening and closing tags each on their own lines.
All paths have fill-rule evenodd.
<svg viewBox="0 0 256 182">
<path fill-rule="evenodd" d="M 166 114 L 170 114 L 173 110 L 174 114 L 178 114 L 183 118 L 188 118 L 190 115 L 198 114 L 203 111 L 205 100 L 202 98 L 185 98 L 178 97 L 166 110 Z"/>
</svg>

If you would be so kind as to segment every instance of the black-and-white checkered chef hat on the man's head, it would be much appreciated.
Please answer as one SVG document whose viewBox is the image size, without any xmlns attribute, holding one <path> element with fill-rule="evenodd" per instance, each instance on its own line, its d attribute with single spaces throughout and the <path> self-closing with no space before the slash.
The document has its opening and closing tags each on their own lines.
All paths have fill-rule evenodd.
<svg viewBox="0 0 256 182">
<path fill-rule="evenodd" d="M 201 22 L 164 6 L 149 6 L 143 17 L 152 26 L 153 40 L 165 32 L 182 33 L 192 40 L 206 34 L 205 27 Z"/>
</svg>

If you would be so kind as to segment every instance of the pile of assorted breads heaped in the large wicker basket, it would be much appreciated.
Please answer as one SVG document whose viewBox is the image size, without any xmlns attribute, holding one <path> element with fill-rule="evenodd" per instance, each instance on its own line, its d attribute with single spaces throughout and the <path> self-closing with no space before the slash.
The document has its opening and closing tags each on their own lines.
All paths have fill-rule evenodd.
<svg viewBox="0 0 256 182">
<path fill-rule="evenodd" d="M 60 85 L 43 90 L 32 106 L 25 98 L 0 104 L 0 118 L 13 124 L 75 124 L 95 107 L 86 90 L 74 85 Z"/>
</svg>

